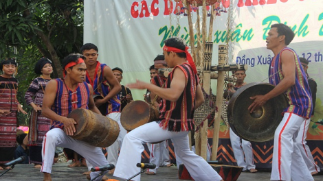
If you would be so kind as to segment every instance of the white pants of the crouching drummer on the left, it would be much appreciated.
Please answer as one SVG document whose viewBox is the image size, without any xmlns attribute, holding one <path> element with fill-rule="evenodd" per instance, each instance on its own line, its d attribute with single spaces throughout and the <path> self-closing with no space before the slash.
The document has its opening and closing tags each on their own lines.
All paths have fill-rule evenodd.
<svg viewBox="0 0 323 181">
<path fill-rule="evenodd" d="M 78 152 L 85 159 L 87 159 L 91 165 L 100 167 L 107 165 L 108 162 L 102 153 L 100 147 L 94 147 L 83 141 L 78 141 L 70 136 L 67 136 L 60 128 L 54 128 L 49 130 L 44 137 L 43 148 L 41 156 L 43 157 L 43 165 L 41 166 L 41 172 L 52 173 L 52 165 L 54 162 L 55 148 L 67 147 Z M 91 179 L 98 176 L 100 171 L 92 172 Z M 98 177 L 96 180 L 101 180 L 104 175 Z"/>
</svg>

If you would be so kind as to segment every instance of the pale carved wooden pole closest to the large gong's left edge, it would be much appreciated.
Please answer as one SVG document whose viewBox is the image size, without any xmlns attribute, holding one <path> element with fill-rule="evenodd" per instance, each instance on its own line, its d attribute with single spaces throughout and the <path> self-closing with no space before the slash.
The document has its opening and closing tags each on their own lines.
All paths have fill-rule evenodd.
<svg viewBox="0 0 323 181">
<path fill-rule="evenodd" d="M 219 64 L 225 64 L 225 59 L 227 58 L 227 49 L 228 49 L 227 46 L 219 45 Z M 215 121 L 214 121 L 211 160 L 216 160 L 216 156 L 218 154 L 220 121 L 221 121 L 222 101 L 223 101 L 224 75 L 225 75 L 225 72 L 223 71 L 218 72 L 218 82 L 216 84 L 216 101 L 215 101 L 216 107 L 218 108 L 218 114 L 216 114 Z"/>
</svg>

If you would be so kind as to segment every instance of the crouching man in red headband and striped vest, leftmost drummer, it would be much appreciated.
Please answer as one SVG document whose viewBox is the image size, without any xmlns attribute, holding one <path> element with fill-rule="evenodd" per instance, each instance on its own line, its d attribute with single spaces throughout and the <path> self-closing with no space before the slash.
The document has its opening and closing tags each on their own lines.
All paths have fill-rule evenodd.
<svg viewBox="0 0 323 181">
<path fill-rule="evenodd" d="M 84 108 L 100 114 L 93 101 L 93 88 L 84 82 L 87 70 L 84 59 L 79 54 L 70 54 L 64 58 L 65 77 L 49 81 L 45 89 L 42 113 L 53 120 L 51 130 L 45 134 L 41 152 L 43 156 L 41 172 L 44 173 L 46 181 L 52 180 L 50 173 L 56 146 L 77 151 L 95 167 L 108 164 L 100 147 L 94 147 L 70 137 L 76 132 L 74 126 L 76 121 L 67 118 L 67 114 L 72 110 Z M 97 172 L 91 173 L 91 178 L 96 176 L 98 176 Z M 102 176 L 96 180 L 101 180 Z"/>
</svg>

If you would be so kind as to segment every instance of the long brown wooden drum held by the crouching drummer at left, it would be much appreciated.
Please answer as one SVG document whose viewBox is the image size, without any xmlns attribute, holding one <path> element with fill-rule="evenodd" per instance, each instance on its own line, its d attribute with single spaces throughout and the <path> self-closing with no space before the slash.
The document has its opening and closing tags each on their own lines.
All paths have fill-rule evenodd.
<svg viewBox="0 0 323 181">
<path fill-rule="evenodd" d="M 119 136 L 117 121 L 104 117 L 87 109 L 73 110 L 68 118 L 76 121 L 74 139 L 84 141 L 96 147 L 109 147 Z"/>
</svg>

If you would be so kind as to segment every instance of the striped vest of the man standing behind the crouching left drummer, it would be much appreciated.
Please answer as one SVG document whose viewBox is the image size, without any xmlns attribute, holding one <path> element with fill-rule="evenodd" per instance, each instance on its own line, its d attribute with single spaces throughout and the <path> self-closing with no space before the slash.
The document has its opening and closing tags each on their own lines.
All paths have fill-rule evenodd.
<svg viewBox="0 0 323 181">
<path fill-rule="evenodd" d="M 104 79 L 103 70 L 107 64 L 101 64 L 97 61 L 96 63 L 96 71 L 94 73 L 94 80 L 92 81 L 89 73 L 87 72 L 87 77 L 85 77 L 85 82 L 91 84 L 94 90 L 94 95 L 101 95 L 102 97 L 106 97 L 111 88 L 110 83 Z M 119 95 L 115 95 L 115 97 L 111 98 L 107 101 L 107 110 L 105 115 L 110 114 L 111 112 L 120 112 L 121 109 L 121 101 Z"/>
</svg>

